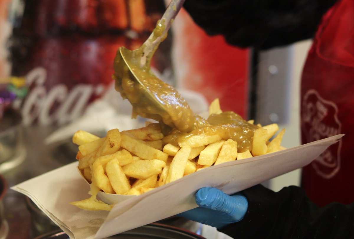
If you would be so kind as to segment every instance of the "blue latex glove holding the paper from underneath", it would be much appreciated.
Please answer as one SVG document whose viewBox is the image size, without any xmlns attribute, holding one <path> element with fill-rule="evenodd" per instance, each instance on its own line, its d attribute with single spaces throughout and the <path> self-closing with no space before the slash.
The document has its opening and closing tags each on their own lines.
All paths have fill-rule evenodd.
<svg viewBox="0 0 354 239">
<path fill-rule="evenodd" d="M 216 228 L 240 221 L 245 216 L 248 207 L 246 197 L 241 194 L 230 196 L 214 187 L 199 189 L 195 194 L 195 202 L 199 207 L 176 216 Z"/>
</svg>

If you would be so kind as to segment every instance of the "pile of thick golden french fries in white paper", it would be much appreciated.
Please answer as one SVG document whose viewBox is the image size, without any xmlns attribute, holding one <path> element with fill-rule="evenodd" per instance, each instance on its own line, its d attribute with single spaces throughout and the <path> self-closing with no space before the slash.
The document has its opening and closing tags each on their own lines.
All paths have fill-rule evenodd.
<svg viewBox="0 0 354 239">
<path fill-rule="evenodd" d="M 222 111 L 216 99 L 209 114 L 219 113 Z M 79 146 L 76 159 L 81 175 L 91 184 L 92 196 L 72 204 L 89 210 L 110 210 L 112 205 L 96 199 L 99 190 L 139 195 L 205 167 L 278 151 L 285 131 L 276 134 L 278 130 L 277 124 L 258 125 L 252 150 L 245 152 L 238 152 L 237 142 L 232 139 L 210 133 L 192 136 L 178 146 L 164 144 L 157 123 L 147 122 L 145 127 L 121 132 L 112 129 L 103 138 L 79 130 L 73 136 Z"/>
</svg>

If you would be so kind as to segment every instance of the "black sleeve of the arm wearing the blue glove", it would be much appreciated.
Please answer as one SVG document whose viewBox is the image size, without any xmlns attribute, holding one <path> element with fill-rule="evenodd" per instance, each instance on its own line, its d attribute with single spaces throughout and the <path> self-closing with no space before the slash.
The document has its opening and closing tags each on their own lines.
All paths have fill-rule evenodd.
<svg viewBox="0 0 354 239">
<path fill-rule="evenodd" d="M 354 203 L 331 203 L 320 208 L 296 186 L 273 192 L 257 185 L 242 193 L 249 201 L 245 217 L 219 229 L 230 237 L 354 238 Z"/>
</svg>

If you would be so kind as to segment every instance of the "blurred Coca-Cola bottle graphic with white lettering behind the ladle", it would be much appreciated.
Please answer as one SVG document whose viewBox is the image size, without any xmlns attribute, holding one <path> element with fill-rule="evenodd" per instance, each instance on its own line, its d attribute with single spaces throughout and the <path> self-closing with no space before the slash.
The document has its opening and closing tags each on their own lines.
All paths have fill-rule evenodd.
<svg viewBox="0 0 354 239">
<path fill-rule="evenodd" d="M 11 42 L 12 75 L 25 76 L 18 99 L 25 125 L 61 125 L 111 86 L 120 46 L 135 49 L 165 10 L 163 0 L 25 0 Z M 171 69 L 171 36 L 152 62 Z M 166 54 L 167 52 L 167 54 Z"/>
</svg>

